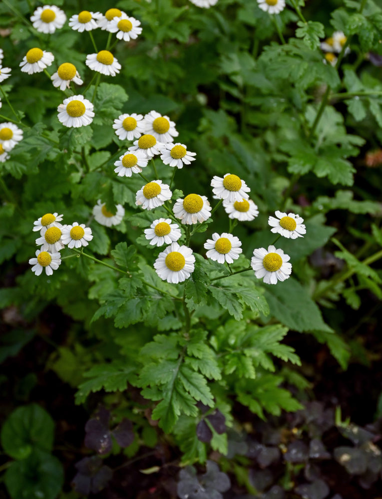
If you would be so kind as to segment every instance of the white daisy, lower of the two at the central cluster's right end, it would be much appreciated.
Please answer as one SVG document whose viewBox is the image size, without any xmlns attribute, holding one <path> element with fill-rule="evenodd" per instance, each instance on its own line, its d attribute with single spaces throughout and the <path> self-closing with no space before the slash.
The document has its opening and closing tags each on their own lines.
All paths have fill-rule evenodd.
<svg viewBox="0 0 382 499">
<path fill-rule="evenodd" d="M 283 250 L 276 250 L 272 245 L 253 250 L 251 267 L 258 279 L 264 278 L 266 284 L 277 284 L 278 280 L 288 279 L 292 272 L 292 264 L 288 263 L 290 256 Z"/>
</svg>

